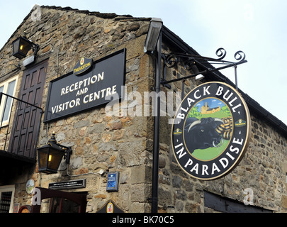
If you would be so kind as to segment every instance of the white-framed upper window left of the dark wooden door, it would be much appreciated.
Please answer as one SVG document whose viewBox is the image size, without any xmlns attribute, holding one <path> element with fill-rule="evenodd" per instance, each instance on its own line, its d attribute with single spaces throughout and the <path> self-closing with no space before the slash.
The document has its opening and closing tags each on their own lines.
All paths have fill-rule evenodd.
<svg viewBox="0 0 287 227">
<path fill-rule="evenodd" d="M 0 92 L 15 95 L 18 77 L 13 77 L 0 84 Z M 6 126 L 9 123 L 9 116 L 12 108 L 12 99 L 6 95 L 2 96 L 0 104 L 0 123 L 1 126 Z"/>
</svg>

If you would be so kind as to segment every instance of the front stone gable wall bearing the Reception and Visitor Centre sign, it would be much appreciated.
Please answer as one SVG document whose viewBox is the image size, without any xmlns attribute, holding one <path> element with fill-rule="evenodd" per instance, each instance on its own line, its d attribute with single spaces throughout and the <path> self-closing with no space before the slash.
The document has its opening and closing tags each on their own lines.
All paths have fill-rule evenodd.
<svg viewBox="0 0 287 227">
<path fill-rule="evenodd" d="M 143 93 L 152 87 L 152 58 L 143 52 L 150 18 L 55 7 L 41 7 L 40 21 L 33 21 L 30 14 L 1 50 L 1 57 L 5 57 L 5 60 L 1 60 L 0 69 L 1 75 L 15 70 L 18 60 L 11 56 L 11 43 L 26 31 L 28 38 L 40 45 L 38 62 L 49 59 L 43 110 L 50 80 L 71 72 L 82 56 L 98 60 L 126 48 L 127 94 L 133 91 Z M 21 84 L 21 78 L 18 84 Z M 47 188 L 50 182 L 84 177 L 86 188 L 72 191 L 88 192 L 87 212 L 97 211 L 108 199 L 113 199 L 125 211 L 150 211 L 148 197 L 151 179 L 147 163 L 152 155 L 146 149 L 147 134 L 150 134 L 147 124 L 150 120 L 121 114 L 121 111 L 143 105 L 133 104 L 133 100 L 128 99 L 123 103 L 123 107 L 114 106 L 114 109 L 120 108 L 120 116 L 107 116 L 105 106 L 99 106 L 59 121 L 41 123 L 38 146 L 45 145 L 55 132 L 58 143 L 72 146 L 71 162 L 67 166 L 63 161 L 55 175 L 39 173 L 38 166 L 33 174 L 22 175 L 16 184 L 15 202 L 21 206 L 30 204 L 31 195 L 25 192 L 26 182 L 30 178 L 35 180 L 36 186 Z M 119 189 L 118 192 L 108 193 L 106 177 L 108 172 L 113 171 L 120 172 Z M 47 211 L 47 207 L 43 211 Z"/>
</svg>

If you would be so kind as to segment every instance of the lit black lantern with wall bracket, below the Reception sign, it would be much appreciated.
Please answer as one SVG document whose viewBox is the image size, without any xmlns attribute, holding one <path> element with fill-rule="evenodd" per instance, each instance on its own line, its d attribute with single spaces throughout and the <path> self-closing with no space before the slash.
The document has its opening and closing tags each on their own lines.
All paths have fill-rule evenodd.
<svg viewBox="0 0 287 227">
<path fill-rule="evenodd" d="M 47 174 L 57 173 L 63 156 L 64 159 L 66 159 L 66 163 L 69 164 L 70 156 L 72 155 L 71 147 L 57 143 L 55 133 L 52 133 L 52 137 L 48 140 L 47 145 L 37 150 L 39 172 L 45 172 Z"/>
</svg>

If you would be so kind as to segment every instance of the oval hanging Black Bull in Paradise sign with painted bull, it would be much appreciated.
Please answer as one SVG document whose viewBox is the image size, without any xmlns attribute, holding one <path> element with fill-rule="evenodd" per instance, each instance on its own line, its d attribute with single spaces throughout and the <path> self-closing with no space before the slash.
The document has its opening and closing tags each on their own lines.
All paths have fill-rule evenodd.
<svg viewBox="0 0 287 227">
<path fill-rule="evenodd" d="M 171 145 L 180 167 L 198 179 L 217 179 L 242 160 L 250 138 L 250 115 L 237 90 L 222 82 L 201 84 L 176 111 Z"/>
</svg>

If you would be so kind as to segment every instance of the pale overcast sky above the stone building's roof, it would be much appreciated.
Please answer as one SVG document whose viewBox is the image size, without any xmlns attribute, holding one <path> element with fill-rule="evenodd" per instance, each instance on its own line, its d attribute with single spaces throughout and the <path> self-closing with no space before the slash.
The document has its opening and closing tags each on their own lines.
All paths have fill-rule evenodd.
<svg viewBox="0 0 287 227">
<path fill-rule="evenodd" d="M 238 87 L 287 124 L 286 0 L 2 1 L 0 48 L 35 4 L 162 18 L 167 28 L 207 57 L 225 48 L 225 60 L 235 61 L 235 52 L 242 50 L 248 62 L 237 67 Z M 221 72 L 235 82 L 233 68 Z"/>
</svg>

